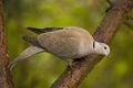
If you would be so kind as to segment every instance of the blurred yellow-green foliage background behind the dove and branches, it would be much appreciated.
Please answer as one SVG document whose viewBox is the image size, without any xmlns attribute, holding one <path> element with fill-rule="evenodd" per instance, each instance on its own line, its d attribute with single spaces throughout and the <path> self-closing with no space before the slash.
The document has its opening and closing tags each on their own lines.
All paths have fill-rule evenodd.
<svg viewBox="0 0 133 88">
<path fill-rule="evenodd" d="M 3 0 L 10 61 L 30 46 L 21 37 L 34 36 L 27 26 L 82 26 L 95 31 L 105 15 L 105 0 Z M 133 21 L 132 21 L 133 24 Z M 133 88 L 133 29 L 124 24 L 111 42 L 111 58 L 104 57 L 79 88 Z M 12 70 L 16 88 L 49 88 L 66 64 L 41 53 L 20 62 Z"/>
</svg>

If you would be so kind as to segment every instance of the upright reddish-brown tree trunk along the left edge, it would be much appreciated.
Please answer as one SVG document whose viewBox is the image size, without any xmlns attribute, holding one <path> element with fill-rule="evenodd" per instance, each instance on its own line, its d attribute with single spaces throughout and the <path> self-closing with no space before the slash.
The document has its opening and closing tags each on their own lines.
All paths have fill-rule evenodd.
<svg viewBox="0 0 133 88">
<path fill-rule="evenodd" d="M 0 88 L 13 88 L 11 75 L 7 68 L 8 64 L 9 61 L 3 26 L 2 0 L 0 0 Z"/>
</svg>

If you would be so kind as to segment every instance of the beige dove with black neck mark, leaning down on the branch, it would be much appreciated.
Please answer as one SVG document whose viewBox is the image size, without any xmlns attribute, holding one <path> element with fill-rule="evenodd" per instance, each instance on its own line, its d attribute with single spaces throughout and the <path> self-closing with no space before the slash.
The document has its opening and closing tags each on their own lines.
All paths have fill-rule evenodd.
<svg viewBox="0 0 133 88">
<path fill-rule="evenodd" d="M 105 43 L 94 41 L 89 31 L 79 26 L 61 26 L 61 28 L 27 28 L 38 34 L 37 37 L 24 36 L 23 40 L 29 42 L 31 46 L 25 48 L 10 64 L 12 69 L 14 65 L 24 58 L 41 52 L 51 53 L 62 58 L 69 65 L 71 59 L 84 57 L 89 54 L 100 54 L 108 56 L 110 47 Z"/>
</svg>

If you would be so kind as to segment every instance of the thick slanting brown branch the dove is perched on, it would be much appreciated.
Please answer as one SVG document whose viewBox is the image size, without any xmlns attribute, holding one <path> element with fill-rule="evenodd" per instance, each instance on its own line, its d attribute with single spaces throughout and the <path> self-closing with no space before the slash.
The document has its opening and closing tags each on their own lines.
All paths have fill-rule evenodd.
<svg viewBox="0 0 133 88">
<path fill-rule="evenodd" d="M 111 8 L 93 34 L 96 41 L 104 41 L 108 44 L 124 22 L 127 11 L 133 8 L 133 0 L 115 0 L 110 4 Z M 76 63 L 80 69 L 68 67 L 51 88 L 76 88 L 102 58 L 103 56 L 94 54 L 81 58 Z"/>
</svg>

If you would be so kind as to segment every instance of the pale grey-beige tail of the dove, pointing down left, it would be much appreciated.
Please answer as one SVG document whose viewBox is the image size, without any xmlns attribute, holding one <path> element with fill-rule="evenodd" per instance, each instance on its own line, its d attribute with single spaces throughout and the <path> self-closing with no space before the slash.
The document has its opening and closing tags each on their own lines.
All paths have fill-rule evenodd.
<svg viewBox="0 0 133 88">
<path fill-rule="evenodd" d="M 38 46 L 30 46 L 25 51 L 23 51 L 17 58 L 14 58 L 12 62 L 10 62 L 8 67 L 11 70 L 18 62 L 25 59 L 25 58 L 28 58 L 34 54 L 41 53 L 41 52 L 44 52 L 44 50 L 41 47 L 38 47 Z"/>
</svg>

